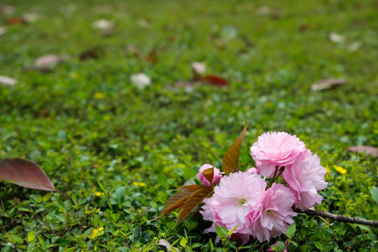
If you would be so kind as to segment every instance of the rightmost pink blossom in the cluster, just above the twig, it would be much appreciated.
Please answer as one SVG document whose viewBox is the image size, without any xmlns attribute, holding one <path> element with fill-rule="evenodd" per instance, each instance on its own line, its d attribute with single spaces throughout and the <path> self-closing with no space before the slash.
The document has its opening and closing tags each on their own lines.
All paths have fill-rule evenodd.
<svg viewBox="0 0 378 252">
<path fill-rule="evenodd" d="M 312 155 L 309 150 L 299 155 L 292 165 L 285 167 L 281 176 L 297 198 L 295 207 L 304 211 L 321 203 L 323 197 L 317 191 L 327 187 L 328 183 L 324 180 L 326 173 L 318 155 Z"/>
</svg>

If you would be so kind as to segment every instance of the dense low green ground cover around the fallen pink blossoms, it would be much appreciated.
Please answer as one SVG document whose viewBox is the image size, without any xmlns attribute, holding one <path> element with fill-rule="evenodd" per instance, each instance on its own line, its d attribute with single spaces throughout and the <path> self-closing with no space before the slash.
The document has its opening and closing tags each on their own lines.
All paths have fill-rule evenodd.
<svg viewBox="0 0 378 252">
<path fill-rule="evenodd" d="M 1 183 L 1 251 L 165 250 L 160 239 L 181 251 L 235 250 L 202 235 L 210 223 L 198 216 L 176 226 L 176 212 L 154 218 L 200 165 L 221 168 L 244 120 L 242 170 L 254 166 L 248 147 L 262 132 L 297 134 L 331 170 L 317 209 L 377 219 L 378 160 L 345 151 L 378 146 L 377 1 L 6 3 L 15 13 L 0 15 L 8 29 L 0 74 L 18 85 L 0 84 L 0 158 L 33 160 L 72 199 Z M 25 13 L 39 20 L 7 25 Z M 101 18 L 118 24 L 110 36 L 92 29 Z M 332 32 L 345 41 L 331 41 Z M 102 54 L 80 61 L 94 46 Z M 51 73 L 25 71 L 47 54 L 71 58 Z M 193 78 L 191 62 L 230 85 L 175 87 Z M 139 72 L 152 79 L 144 90 L 130 82 Z M 346 84 L 311 91 L 323 78 Z M 289 251 L 378 249 L 377 228 L 305 215 L 295 223 Z M 245 251 L 269 244 L 251 241 Z"/>
</svg>

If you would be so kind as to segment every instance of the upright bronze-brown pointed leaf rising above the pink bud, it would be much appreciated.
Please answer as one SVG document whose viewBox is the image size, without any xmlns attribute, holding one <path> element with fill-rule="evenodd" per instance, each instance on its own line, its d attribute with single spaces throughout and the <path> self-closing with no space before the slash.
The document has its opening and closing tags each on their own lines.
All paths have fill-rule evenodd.
<svg viewBox="0 0 378 252">
<path fill-rule="evenodd" d="M 232 172 L 239 171 L 237 164 L 239 163 L 241 144 L 243 143 L 247 127 L 248 123 L 246 122 L 243 131 L 241 132 L 239 137 L 231 144 L 230 148 L 228 148 L 225 156 L 223 157 L 223 172 L 225 172 L 225 174 L 229 175 Z"/>
</svg>

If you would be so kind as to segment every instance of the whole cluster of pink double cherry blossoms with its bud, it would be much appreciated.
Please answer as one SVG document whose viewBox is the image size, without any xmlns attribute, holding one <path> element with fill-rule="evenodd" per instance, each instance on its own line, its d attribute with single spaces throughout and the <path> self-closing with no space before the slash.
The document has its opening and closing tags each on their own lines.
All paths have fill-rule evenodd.
<svg viewBox="0 0 378 252">
<path fill-rule="evenodd" d="M 327 187 L 325 168 L 317 155 L 312 155 L 304 143 L 286 132 L 268 132 L 258 137 L 251 146 L 256 168 L 222 176 L 214 168 L 214 194 L 204 199 L 204 220 L 213 224 L 205 232 L 216 232 L 216 225 L 235 231 L 232 238 L 248 242 L 251 235 L 260 242 L 286 234 L 297 214 L 319 204 L 323 197 L 318 190 Z M 201 174 L 212 165 L 203 165 L 200 180 L 209 181 Z M 264 177 L 262 177 L 264 176 Z M 272 179 L 269 184 L 265 178 Z M 281 177 L 283 183 L 274 183 Z"/>
</svg>

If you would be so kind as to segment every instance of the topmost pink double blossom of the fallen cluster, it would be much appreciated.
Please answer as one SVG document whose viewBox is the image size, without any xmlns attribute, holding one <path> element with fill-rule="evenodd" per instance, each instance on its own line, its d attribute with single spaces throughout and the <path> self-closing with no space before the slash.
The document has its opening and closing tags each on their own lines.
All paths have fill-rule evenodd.
<svg viewBox="0 0 378 252">
<path fill-rule="evenodd" d="M 275 167 L 291 165 L 306 146 L 295 135 L 267 132 L 251 146 L 251 155 L 262 176 L 272 178 Z"/>
</svg>

